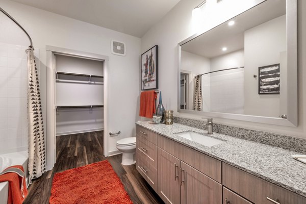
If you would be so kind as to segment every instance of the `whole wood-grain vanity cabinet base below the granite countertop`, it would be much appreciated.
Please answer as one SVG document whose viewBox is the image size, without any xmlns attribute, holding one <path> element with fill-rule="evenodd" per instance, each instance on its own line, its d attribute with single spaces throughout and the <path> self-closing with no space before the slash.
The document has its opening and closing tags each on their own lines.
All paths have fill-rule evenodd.
<svg viewBox="0 0 306 204">
<path fill-rule="evenodd" d="M 167 204 L 306 203 L 306 197 L 148 129 L 136 129 L 136 168 Z"/>
</svg>

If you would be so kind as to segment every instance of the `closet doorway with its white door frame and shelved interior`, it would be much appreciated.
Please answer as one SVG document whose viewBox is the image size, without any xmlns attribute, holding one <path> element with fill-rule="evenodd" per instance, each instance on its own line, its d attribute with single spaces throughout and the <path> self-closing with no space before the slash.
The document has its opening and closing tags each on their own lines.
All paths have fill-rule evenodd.
<svg viewBox="0 0 306 204">
<path fill-rule="evenodd" d="M 80 165 L 104 157 L 108 57 L 48 46 L 47 59 L 47 169 L 62 154 Z"/>
</svg>

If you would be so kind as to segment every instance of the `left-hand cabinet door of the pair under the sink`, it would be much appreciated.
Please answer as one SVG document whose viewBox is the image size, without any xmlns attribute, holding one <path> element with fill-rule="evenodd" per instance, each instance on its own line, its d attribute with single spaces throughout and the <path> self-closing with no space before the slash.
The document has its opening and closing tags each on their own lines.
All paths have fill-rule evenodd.
<svg viewBox="0 0 306 204">
<path fill-rule="evenodd" d="M 158 195 L 169 204 L 180 204 L 180 160 L 158 148 Z"/>
</svg>

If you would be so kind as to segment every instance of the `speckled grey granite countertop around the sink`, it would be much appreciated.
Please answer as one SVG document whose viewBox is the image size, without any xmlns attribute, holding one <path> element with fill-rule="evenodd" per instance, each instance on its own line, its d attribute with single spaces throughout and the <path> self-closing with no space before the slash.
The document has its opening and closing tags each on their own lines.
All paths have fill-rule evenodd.
<svg viewBox="0 0 306 204">
<path fill-rule="evenodd" d="M 291 157 L 297 154 L 296 152 L 215 132 L 206 136 L 224 142 L 206 147 L 177 136 L 177 133 L 186 131 L 207 134 L 206 130 L 178 123 L 164 125 L 138 121 L 136 124 L 306 197 L 306 164 Z"/>
</svg>

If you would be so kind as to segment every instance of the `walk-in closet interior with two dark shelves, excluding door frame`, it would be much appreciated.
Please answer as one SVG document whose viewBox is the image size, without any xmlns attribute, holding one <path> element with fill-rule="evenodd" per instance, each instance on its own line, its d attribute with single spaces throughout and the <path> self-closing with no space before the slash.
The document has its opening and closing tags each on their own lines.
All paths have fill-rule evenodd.
<svg viewBox="0 0 306 204">
<path fill-rule="evenodd" d="M 69 149 L 71 142 L 73 150 L 67 151 L 71 157 L 86 155 L 90 145 L 78 145 L 85 140 L 94 142 L 103 154 L 104 61 L 55 54 L 54 65 L 56 162 L 59 151 Z M 67 147 L 62 147 L 63 141 Z"/>
</svg>

